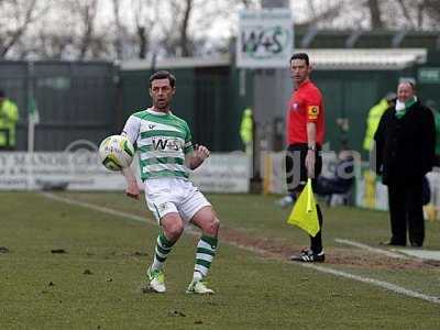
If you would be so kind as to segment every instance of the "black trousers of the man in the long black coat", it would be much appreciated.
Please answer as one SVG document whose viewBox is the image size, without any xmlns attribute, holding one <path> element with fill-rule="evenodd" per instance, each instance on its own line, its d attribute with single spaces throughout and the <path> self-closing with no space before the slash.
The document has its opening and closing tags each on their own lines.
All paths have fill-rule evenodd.
<svg viewBox="0 0 440 330">
<path fill-rule="evenodd" d="M 409 242 L 421 246 L 425 240 L 422 178 L 388 184 L 388 202 L 392 243 L 405 245 L 408 229 Z"/>
</svg>

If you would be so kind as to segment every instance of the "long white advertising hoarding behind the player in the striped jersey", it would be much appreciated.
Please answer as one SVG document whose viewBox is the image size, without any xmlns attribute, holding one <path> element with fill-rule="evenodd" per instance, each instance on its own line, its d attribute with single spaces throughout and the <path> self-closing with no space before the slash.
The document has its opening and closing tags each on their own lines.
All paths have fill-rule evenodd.
<svg viewBox="0 0 440 330">
<path fill-rule="evenodd" d="M 248 193 L 249 164 L 244 153 L 211 154 L 190 176 L 206 193 Z M 138 158 L 132 167 L 139 177 Z M 95 151 L 0 153 L 0 190 L 41 189 L 123 191 L 125 179 Z"/>
</svg>

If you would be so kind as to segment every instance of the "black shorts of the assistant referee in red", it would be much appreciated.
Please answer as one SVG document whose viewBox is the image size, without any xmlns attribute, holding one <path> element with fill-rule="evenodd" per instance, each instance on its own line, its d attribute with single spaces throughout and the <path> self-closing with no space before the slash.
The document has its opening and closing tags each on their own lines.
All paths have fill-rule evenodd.
<svg viewBox="0 0 440 330">
<path fill-rule="evenodd" d="M 307 143 L 290 144 L 286 152 L 286 184 L 289 193 L 300 193 L 307 184 L 306 155 L 308 152 Z M 315 162 L 315 178 L 311 184 L 315 188 L 315 182 L 321 174 L 322 156 L 321 147 L 317 146 Z"/>
</svg>

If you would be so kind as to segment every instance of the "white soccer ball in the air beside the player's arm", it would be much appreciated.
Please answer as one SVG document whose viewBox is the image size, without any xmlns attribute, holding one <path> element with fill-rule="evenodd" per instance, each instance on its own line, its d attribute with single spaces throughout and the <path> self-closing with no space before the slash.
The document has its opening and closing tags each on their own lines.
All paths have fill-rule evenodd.
<svg viewBox="0 0 440 330">
<path fill-rule="evenodd" d="M 121 170 L 133 162 L 133 144 L 122 135 L 111 135 L 105 139 L 99 145 L 99 157 L 106 168 Z"/>
</svg>

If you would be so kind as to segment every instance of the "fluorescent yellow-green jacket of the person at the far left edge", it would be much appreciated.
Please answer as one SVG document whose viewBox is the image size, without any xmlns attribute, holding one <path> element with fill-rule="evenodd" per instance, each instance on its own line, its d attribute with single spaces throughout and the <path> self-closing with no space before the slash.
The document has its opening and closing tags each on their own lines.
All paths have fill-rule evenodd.
<svg viewBox="0 0 440 330">
<path fill-rule="evenodd" d="M 0 147 L 15 147 L 15 125 L 19 121 L 19 110 L 14 102 L 4 99 L 0 106 Z M 9 135 L 9 141 L 8 141 Z"/>
</svg>

